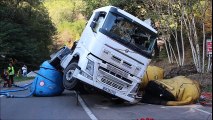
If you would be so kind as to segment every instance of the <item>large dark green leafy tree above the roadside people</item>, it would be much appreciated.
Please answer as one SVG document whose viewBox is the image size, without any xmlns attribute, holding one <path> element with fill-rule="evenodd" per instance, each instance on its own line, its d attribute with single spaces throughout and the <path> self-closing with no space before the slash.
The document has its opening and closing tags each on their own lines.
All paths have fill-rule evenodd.
<svg viewBox="0 0 213 120">
<path fill-rule="evenodd" d="M 0 66 L 9 58 L 39 65 L 49 58 L 54 34 L 48 12 L 38 0 L 1 0 L 0 55 L 6 57 L 1 57 Z"/>
</svg>

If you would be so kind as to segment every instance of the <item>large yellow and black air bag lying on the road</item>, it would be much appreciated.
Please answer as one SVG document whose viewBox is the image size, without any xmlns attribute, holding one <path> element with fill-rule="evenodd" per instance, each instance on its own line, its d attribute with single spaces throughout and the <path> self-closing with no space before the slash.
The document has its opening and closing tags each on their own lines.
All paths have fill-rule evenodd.
<svg viewBox="0 0 213 120">
<path fill-rule="evenodd" d="M 192 104 L 200 98 L 201 94 L 199 83 L 185 76 L 155 80 L 149 84 L 147 85 L 146 94 L 153 95 L 153 97 L 159 96 L 159 98 L 162 98 L 159 101 L 162 101 L 158 103 L 164 105 Z M 149 99 L 151 100 L 151 98 Z"/>
</svg>

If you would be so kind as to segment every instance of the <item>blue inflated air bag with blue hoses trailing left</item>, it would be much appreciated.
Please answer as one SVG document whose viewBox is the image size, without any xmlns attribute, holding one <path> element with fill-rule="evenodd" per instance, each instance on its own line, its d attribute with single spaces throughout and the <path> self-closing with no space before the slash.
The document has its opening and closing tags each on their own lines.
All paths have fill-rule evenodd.
<svg viewBox="0 0 213 120">
<path fill-rule="evenodd" d="M 55 69 L 48 61 L 42 63 L 40 70 L 35 72 L 36 77 L 33 82 L 24 85 L 13 85 L 19 89 L 12 90 L 0 90 L 0 95 L 4 95 L 8 98 L 26 98 L 32 95 L 34 96 L 56 96 L 62 94 L 64 91 L 62 83 L 62 73 Z M 11 92 L 25 91 L 28 88 L 30 93 L 25 96 L 16 96 L 10 94 Z"/>
</svg>

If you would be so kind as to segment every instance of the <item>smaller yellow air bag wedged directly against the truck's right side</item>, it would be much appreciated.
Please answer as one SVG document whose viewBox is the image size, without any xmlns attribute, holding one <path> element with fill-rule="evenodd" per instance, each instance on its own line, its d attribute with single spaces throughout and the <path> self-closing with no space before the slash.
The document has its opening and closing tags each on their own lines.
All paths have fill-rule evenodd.
<svg viewBox="0 0 213 120">
<path fill-rule="evenodd" d="M 157 66 L 148 66 L 142 78 L 141 90 L 144 90 L 150 80 L 163 79 L 164 70 Z"/>
</svg>

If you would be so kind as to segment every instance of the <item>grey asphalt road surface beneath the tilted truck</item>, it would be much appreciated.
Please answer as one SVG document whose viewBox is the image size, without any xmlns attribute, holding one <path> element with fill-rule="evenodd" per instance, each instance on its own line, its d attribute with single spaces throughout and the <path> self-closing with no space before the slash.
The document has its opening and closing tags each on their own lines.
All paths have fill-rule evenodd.
<svg viewBox="0 0 213 120">
<path fill-rule="evenodd" d="M 2 89 L 2 88 L 1 88 Z M 29 91 L 14 93 L 26 95 Z M 80 95 L 64 91 L 56 97 L 6 98 L 0 96 L 1 120 L 211 120 L 212 107 L 198 104 L 161 106 L 116 104 L 98 95 Z"/>
</svg>

